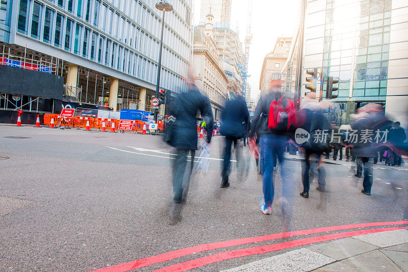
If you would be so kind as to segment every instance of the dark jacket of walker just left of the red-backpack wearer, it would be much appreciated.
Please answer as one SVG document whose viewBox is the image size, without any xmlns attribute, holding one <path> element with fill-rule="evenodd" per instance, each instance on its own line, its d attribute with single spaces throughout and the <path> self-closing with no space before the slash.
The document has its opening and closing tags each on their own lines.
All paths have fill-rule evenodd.
<svg viewBox="0 0 408 272">
<path fill-rule="evenodd" d="M 248 130 L 249 112 L 241 95 L 227 101 L 221 114 L 220 133 L 224 136 L 241 139 Z M 244 125 L 243 125 L 244 124 Z"/>
</svg>

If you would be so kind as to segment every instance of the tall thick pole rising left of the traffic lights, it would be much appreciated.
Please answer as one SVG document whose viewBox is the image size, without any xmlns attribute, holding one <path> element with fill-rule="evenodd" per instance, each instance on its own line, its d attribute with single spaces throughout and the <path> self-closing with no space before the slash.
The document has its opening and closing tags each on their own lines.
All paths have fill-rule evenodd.
<svg viewBox="0 0 408 272">
<path fill-rule="evenodd" d="M 296 65 L 296 103 L 295 108 L 300 109 L 300 97 L 302 91 L 302 71 L 303 71 L 303 35 L 304 35 L 304 17 L 306 14 L 307 0 L 302 1 L 301 18 L 299 26 L 299 43 L 297 48 L 297 65 Z"/>
</svg>

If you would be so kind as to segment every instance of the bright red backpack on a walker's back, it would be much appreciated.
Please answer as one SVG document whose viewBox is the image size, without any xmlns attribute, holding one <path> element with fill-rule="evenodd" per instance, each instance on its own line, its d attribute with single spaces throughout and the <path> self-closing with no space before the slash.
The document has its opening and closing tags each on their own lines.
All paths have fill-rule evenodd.
<svg viewBox="0 0 408 272">
<path fill-rule="evenodd" d="M 293 102 L 282 96 L 278 101 L 273 100 L 269 107 L 268 129 L 285 132 L 295 122 Z"/>
</svg>

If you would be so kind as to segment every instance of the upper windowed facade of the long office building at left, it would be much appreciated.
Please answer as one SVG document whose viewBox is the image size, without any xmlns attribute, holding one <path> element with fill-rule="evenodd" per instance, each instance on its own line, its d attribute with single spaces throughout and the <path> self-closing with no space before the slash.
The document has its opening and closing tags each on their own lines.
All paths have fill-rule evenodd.
<svg viewBox="0 0 408 272">
<path fill-rule="evenodd" d="M 160 50 L 163 13 L 155 8 L 156 3 L 6 0 L 0 12 L 0 42 L 12 50 L 22 47 L 24 51 L 27 47 L 27 53 L 34 58 L 40 54 L 43 58 L 63 59 L 59 65 L 64 65 L 64 76 L 74 65 L 81 71 L 91 71 L 95 82 L 103 77 L 117 80 L 119 93 L 121 86 L 133 86 L 135 96 L 147 97 L 156 89 Z M 173 0 L 170 4 L 174 10 L 165 15 L 160 85 L 177 91 L 191 62 L 192 4 L 191 0 Z M 66 78 L 66 84 L 78 85 L 80 79 L 69 82 L 70 78 Z M 105 83 L 109 85 L 107 80 Z M 107 85 L 104 88 L 109 90 Z"/>
</svg>

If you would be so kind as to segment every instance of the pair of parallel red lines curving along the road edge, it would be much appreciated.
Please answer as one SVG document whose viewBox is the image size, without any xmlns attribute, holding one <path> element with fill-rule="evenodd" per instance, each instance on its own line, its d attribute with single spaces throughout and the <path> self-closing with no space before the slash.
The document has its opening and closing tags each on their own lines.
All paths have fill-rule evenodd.
<svg viewBox="0 0 408 272">
<path fill-rule="evenodd" d="M 180 258 L 186 255 L 190 255 L 190 254 L 194 254 L 198 252 L 227 248 L 230 246 L 236 246 L 236 245 L 247 244 L 247 243 L 268 241 L 268 240 L 291 237 L 291 236 L 309 235 L 309 234 L 315 234 L 315 233 L 321 233 L 321 232 L 339 231 L 339 230 L 356 229 L 356 228 L 404 225 L 404 224 L 408 224 L 408 221 L 374 222 L 374 223 L 367 223 L 367 224 L 334 226 L 334 227 L 325 227 L 325 228 L 318 228 L 318 229 L 311 229 L 311 230 L 276 233 L 276 234 L 271 234 L 271 235 L 264 235 L 264 236 L 251 237 L 251 238 L 242 238 L 242 239 L 236 239 L 236 240 L 230 240 L 230 241 L 207 243 L 207 244 L 192 246 L 191 248 L 187 248 L 187 249 L 181 249 L 181 250 L 176 250 L 176 251 L 172 251 L 172 252 L 168 252 L 168 253 L 164 253 L 164 254 L 160 254 L 156 256 L 150 256 L 147 258 L 143 258 L 143 259 L 127 262 L 127 263 L 122 263 L 122 264 L 118 264 L 118 265 L 114 265 L 110 267 L 100 268 L 100 269 L 95 270 L 94 272 L 122 272 L 122 271 L 124 272 L 124 271 L 129 271 L 129 270 L 137 269 L 140 267 L 145 267 L 148 265 L 152 265 L 152 264 L 156 264 L 156 263 L 160 263 L 164 261 L 169 261 L 175 258 Z M 248 248 L 248 249 L 242 249 L 242 250 L 222 252 L 222 253 L 202 257 L 199 259 L 195 259 L 195 260 L 191 260 L 191 261 L 187 261 L 187 262 L 183 262 L 183 263 L 179 263 L 175 265 L 170 265 L 170 266 L 161 268 L 156 271 L 186 271 L 186 270 L 193 269 L 193 268 L 196 268 L 202 265 L 206 265 L 206 264 L 210 264 L 210 263 L 214 263 L 214 262 L 218 262 L 222 260 L 228 260 L 232 258 L 238 258 L 238 257 L 244 257 L 244 256 L 249 256 L 249 255 L 254 255 L 254 254 L 288 249 L 288 248 L 293 248 L 294 246 L 321 242 L 321 241 L 328 241 L 328 240 L 350 237 L 350 236 L 355 236 L 355 235 L 376 233 L 376 232 L 382 232 L 382 231 L 392 231 L 392 230 L 405 229 L 405 228 L 406 227 L 384 228 L 384 229 L 370 229 L 370 230 L 351 231 L 351 232 L 344 232 L 344 233 L 335 233 L 335 234 L 323 235 L 323 236 L 318 236 L 318 237 L 311 237 L 311 238 L 304 238 L 304 239 L 299 239 L 299 240 L 294 240 L 294 241 L 288 241 L 288 242 L 283 242 L 283 243 L 278 243 L 278 244 L 258 246 L 256 248 Z"/>
</svg>

